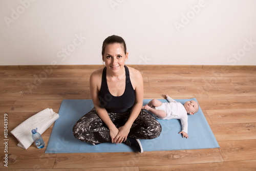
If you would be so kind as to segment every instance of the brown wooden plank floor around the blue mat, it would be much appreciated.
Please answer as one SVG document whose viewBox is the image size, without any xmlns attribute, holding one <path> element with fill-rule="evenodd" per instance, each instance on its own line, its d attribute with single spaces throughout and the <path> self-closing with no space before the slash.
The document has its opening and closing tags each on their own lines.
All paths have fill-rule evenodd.
<svg viewBox="0 0 256 171">
<path fill-rule="evenodd" d="M 63 99 L 90 99 L 89 76 L 99 66 L 0 67 L 0 170 L 256 170 L 256 67 L 133 66 L 144 98 L 196 97 L 220 148 L 144 153 L 45 154 L 18 147 L 11 131 Z M 4 144 L 8 116 L 8 147 Z M 48 143 L 53 125 L 42 134 Z M 8 148 L 8 152 L 5 152 Z M 8 167 L 4 157 L 8 154 Z"/>
</svg>

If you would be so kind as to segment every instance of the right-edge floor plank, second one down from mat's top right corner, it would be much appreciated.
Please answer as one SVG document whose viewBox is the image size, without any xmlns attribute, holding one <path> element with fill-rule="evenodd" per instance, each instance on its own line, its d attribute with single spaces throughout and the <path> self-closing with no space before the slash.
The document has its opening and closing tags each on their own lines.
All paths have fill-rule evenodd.
<svg viewBox="0 0 256 171">
<path fill-rule="evenodd" d="M 256 122 L 256 109 L 207 110 L 214 124 Z"/>
</svg>

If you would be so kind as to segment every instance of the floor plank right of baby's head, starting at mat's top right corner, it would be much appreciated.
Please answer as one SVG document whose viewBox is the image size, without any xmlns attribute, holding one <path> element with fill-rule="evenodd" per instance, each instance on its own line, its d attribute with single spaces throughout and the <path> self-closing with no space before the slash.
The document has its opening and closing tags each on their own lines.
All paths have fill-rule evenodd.
<svg viewBox="0 0 256 171">
<path fill-rule="evenodd" d="M 251 109 L 256 97 L 196 97 L 202 110 Z"/>
</svg>

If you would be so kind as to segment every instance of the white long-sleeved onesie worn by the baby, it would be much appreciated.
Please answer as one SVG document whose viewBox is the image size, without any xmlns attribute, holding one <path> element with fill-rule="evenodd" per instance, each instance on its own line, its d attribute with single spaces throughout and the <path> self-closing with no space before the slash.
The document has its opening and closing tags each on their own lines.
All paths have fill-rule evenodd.
<svg viewBox="0 0 256 171">
<path fill-rule="evenodd" d="M 164 102 L 160 106 L 155 107 L 156 110 L 162 110 L 166 113 L 166 117 L 163 119 L 180 119 L 182 131 L 187 133 L 187 111 L 184 105 L 174 99 L 167 97 L 169 102 Z M 154 115 L 155 116 L 155 115 Z M 157 116 L 155 116 L 157 118 Z M 159 118 L 158 118 L 159 119 Z"/>
</svg>

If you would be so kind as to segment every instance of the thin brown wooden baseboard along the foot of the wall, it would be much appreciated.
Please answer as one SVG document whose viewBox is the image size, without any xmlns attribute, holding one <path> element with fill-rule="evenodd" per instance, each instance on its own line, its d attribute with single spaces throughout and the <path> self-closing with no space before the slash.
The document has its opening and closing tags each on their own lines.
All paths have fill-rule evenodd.
<svg viewBox="0 0 256 171">
<path fill-rule="evenodd" d="M 17 65 L 0 66 L 0 70 L 41 70 L 53 69 L 99 69 L 104 65 Z M 256 66 L 221 66 L 221 65 L 127 65 L 135 69 L 220 69 L 220 70 L 256 70 Z"/>
</svg>

